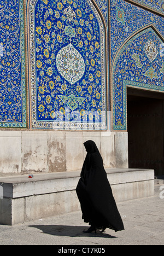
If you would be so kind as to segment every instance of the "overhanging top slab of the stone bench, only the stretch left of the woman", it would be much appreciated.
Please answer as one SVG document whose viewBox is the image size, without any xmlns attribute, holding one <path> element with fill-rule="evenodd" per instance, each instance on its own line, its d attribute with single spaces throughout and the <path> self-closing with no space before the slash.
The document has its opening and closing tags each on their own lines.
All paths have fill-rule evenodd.
<svg viewBox="0 0 164 256">
<path fill-rule="evenodd" d="M 33 178 L 28 178 L 28 175 L 0 178 L 0 186 L 3 187 L 3 197 L 14 199 L 75 190 L 80 171 L 33 175 Z"/>
</svg>

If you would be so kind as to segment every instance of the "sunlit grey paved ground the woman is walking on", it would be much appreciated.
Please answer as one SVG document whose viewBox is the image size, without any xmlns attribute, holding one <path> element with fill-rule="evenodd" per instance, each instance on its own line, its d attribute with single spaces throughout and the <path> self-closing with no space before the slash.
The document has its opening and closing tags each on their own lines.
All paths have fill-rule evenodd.
<svg viewBox="0 0 164 256">
<path fill-rule="evenodd" d="M 88 226 L 81 220 L 81 212 L 74 212 L 32 223 L 0 225 L 0 245 L 164 245 L 164 199 L 160 199 L 164 186 L 163 193 L 160 186 L 155 186 L 153 197 L 118 203 L 125 231 L 84 234 Z"/>
</svg>

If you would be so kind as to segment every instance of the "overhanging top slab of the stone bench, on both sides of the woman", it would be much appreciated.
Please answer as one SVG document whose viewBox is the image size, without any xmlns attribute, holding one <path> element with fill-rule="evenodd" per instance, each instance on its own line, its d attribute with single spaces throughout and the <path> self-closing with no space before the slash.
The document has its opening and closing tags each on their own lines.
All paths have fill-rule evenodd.
<svg viewBox="0 0 164 256">
<path fill-rule="evenodd" d="M 106 172 L 111 185 L 154 180 L 153 170 L 114 168 Z M 79 177 L 80 171 L 36 174 L 33 178 L 28 175 L 0 177 L 0 186 L 4 198 L 14 199 L 75 190 Z"/>
</svg>

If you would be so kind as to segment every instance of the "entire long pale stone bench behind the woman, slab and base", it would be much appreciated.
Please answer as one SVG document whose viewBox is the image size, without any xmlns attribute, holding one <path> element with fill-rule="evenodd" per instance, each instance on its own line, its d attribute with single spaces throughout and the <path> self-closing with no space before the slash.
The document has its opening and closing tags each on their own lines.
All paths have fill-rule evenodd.
<svg viewBox="0 0 164 256">
<path fill-rule="evenodd" d="M 154 170 L 107 169 L 116 202 L 154 195 Z M 80 210 L 80 171 L 0 177 L 0 224 L 13 225 Z"/>
</svg>

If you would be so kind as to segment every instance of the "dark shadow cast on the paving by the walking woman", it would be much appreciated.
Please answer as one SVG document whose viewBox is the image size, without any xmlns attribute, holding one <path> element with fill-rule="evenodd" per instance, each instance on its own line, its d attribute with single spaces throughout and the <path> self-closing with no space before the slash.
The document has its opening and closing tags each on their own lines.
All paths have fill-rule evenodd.
<svg viewBox="0 0 164 256">
<path fill-rule="evenodd" d="M 103 237 L 103 238 L 117 238 L 116 236 L 110 236 L 103 233 L 83 233 L 83 230 L 87 229 L 86 226 L 66 226 L 66 225 L 30 225 L 32 228 L 37 228 L 43 231 L 45 234 L 53 236 L 69 236 L 69 237 Z"/>
</svg>

